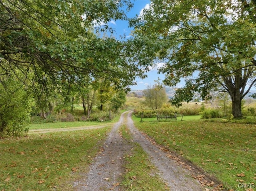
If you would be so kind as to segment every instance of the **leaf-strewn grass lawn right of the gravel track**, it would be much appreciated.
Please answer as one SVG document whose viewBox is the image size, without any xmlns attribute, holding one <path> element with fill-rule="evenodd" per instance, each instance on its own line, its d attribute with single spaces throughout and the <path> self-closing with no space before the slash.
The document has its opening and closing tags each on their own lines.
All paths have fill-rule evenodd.
<svg viewBox="0 0 256 191">
<path fill-rule="evenodd" d="M 135 126 L 222 181 L 224 188 L 256 187 L 256 125 L 184 120 L 140 122 Z M 240 184 L 240 186 L 239 186 Z M 254 186 L 253 186 L 254 185 Z M 256 188 L 252 188 L 256 190 Z M 251 190 L 250 190 L 251 191 Z"/>
</svg>

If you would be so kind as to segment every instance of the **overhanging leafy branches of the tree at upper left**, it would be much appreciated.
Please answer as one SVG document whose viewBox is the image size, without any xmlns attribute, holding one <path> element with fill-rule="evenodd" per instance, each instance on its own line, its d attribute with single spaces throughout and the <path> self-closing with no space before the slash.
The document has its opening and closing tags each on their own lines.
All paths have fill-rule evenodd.
<svg viewBox="0 0 256 191">
<path fill-rule="evenodd" d="M 80 86 L 78 77 L 89 74 L 91 79 L 104 77 L 123 88 L 144 73 L 128 62 L 129 53 L 124 52 L 128 43 L 94 33 L 113 32 L 107 23 L 126 19 L 121 8 L 132 7 L 128 0 L 0 0 L 0 4 L 0 57 L 8 61 L 0 65 L 1 75 L 15 69 L 26 76 L 32 73 L 26 85 L 34 88 L 35 79 L 44 81 L 40 73 L 56 87 L 62 80 Z"/>
</svg>

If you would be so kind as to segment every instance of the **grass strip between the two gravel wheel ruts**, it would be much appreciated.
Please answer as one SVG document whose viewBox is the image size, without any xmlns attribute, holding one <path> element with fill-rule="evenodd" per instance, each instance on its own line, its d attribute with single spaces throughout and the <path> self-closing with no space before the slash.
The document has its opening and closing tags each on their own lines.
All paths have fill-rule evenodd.
<svg viewBox="0 0 256 191">
<path fill-rule="evenodd" d="M 122 126 L 120 129 L 123 138 L 130 140 L 130 132 Z M 133 149 L 131 154 L 125 156 L 124 167 L 126 173 L 123 175 L 121 186 L 127 191 L 166 191 L 169 190 L 159 175 L 156 174 L 154 165 L 149 161 L 147 154 L 139 144 L 130 142 Z"/>
</svg>

